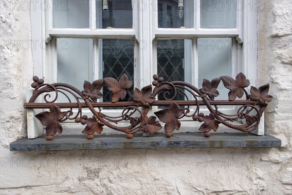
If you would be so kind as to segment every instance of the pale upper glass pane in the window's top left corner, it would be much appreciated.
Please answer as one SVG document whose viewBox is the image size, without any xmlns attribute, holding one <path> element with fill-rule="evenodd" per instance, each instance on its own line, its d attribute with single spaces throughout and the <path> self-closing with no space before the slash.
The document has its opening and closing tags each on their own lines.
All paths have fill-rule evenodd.
<svg viewBox="0 0 292 195">
<path fill-rule="evenodd" d="M 53 27 L 89 28 L 89 0 L 53 0 Z"/>
</svg>

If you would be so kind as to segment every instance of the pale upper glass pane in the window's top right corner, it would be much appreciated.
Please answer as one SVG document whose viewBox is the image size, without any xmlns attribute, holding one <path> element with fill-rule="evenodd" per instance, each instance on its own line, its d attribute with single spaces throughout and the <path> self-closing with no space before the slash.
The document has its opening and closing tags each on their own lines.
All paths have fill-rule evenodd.
<svg viewBox="0 0 292 195">
<path fill-rule="evenodd" d="M 200 7 L 201 28 L 236 28 L 237 0 L 201 0 Z"/>
</svg>

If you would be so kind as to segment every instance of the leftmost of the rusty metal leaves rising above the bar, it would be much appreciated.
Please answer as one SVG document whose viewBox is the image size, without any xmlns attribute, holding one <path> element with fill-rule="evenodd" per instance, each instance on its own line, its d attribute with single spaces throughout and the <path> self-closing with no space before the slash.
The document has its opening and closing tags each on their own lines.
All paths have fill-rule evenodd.
<svg viewBox="0 0 292 195">
<path fill-rule="evenodd" d="M 103 85 L 103 79 L 98 79 L 92 82 L 84 80 L 82 94 L 84 96 L 88 96 L 91 98 L 92 101 L 96 102 L 97 99 L 101 98 L 103 95 L 100 93 L 100 90 Z"/>
</svg>

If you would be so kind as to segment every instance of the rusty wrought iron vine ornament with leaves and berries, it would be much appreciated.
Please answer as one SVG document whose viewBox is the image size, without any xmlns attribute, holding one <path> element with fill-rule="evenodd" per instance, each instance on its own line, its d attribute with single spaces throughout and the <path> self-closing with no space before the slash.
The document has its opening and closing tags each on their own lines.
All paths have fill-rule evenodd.
<svg viewBox="0 0 292 195">
<path fill-rule="evenodd" d="M 133 83 L 125 74 L 121 76 L 119 81 L 114 78 L 103 78 L 92 83 L 85 80 L 82 92 L 66 83 L 46 84 L 43 79 L 38 79 L 35 76 L 31 85 L 35 88 L 33 96 L 28 103 L 24 103 L 24 107 L 27 109 L 49 108 L 49 112 L 46 111 L 36 115 L 41 124 L 46 126 L 47 140 L 52 140 L 56 132 L 62 133 L 61 122 L 65 120 L 74 120 L 76 123 L 86 125 L 82 133 L 88 135 L 88 139 L 93 139 L 95 132 L 102 133 L 103 126 L 124 132 L 128 138 L 132 138 L 133 134 L 139 131 L 154 133 L 162 129 L 158 118 L 165 123 L 165 136 L 171 137 L 171 133 L 175 129 L 180 129 L 180 119 L 183 117 L 190 117 L 195 121 L 203 122 L 199 130 L 204 132 L 205 137 L 209 137 L 211 135 L 210 131 L 212 129 L 217 131 L 220 123 L 243 132 L 254 131 L 258 127 L 260 117 L 268 102 L 273 99 L 272 96 L 268 95 L 269 84 L 262 85 L 259 88 L 251 86 L 251 94 L 248 94 L 245 88 L 250 85 L 250 81 L 242 73 L 239 73 L 236 79 L 228 76 L 214 78 L 211 81 L 203 79 L 200 90 L 183 81 L 164 82 L 164 78 L 158 75 L 154 75 L 153 79 L 153 90 L 152 85 L 148 85 L 141 90 L 135 88 L 134 93 L 130 94 L 129 89 Z M 230 90 L 228 93 L 229 100 L 215 100 L 219 96 L 217 88 L 221 81 Z M 98 102 L 98 99 L 103 97 L 100 92 L 103 83 L 111 91 L 111 102 Z M 48 100 L 51 97 L 50 92 L 55 94 L 53 100 Z M 68 103 L 56 102 L 60 93 L 68 99 Z M 186 100 L 175 100 L 178 93 L 182 94 Z M 35 103 L 35 100 L 41 94 L 44 94 L 46 103 Z M 71 94 L 76 102 L 72 102 L 68 94 Z M 132 101 L 119 101 L 126 98 L 127 94 Z M 187 94 L 191 94 L 191 97 L 188 97 Z M 162 95 L 165 100 L 155 100 L 158 95 Z M 246 100 L 236 99 L 242 98 L 244 95 Z M 241 106 L 236 114 L 226 115 L 218 110 L 218 105 Z M 155 112 L 156 117 L 147 116 L 152 106 L 168 106 L 168 108 Z M 206 106 L 210 114 L 200 113 L 200 106 Z M 111 117 L 102 112 L 101 108 L 103 107 L 123 107 L 124 109 L 121 116 Z M 62 112 L 61 109 L 65 108 L 69 110 Z M 73 108 L 77 108 L 77 112 L 73 112 Z M 83 115 L 83 108 L 89 108 L 93 116 Z M 242 119 L 243 124 L 231 123 L 237 119 Z M 116 125 L 121 121 L 128 121 L 129 125 L 127 127 Z"/>
</svg>

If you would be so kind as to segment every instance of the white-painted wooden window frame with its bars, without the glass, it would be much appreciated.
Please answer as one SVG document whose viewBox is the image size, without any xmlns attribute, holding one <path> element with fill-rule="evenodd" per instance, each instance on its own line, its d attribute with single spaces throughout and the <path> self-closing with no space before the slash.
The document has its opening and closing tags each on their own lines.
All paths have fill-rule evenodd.
<svg viewBox="0 0 292 195">
<path fill-rule="evenodd" d="M 41 76 L 48 81 L 54 82 L 57 79 L 56 72 L 56 50 L 55 38 L 91 38 L 95 47 L 93 47 L 93 72 L 98 79 L 99 68 L 96 64 L 99 61 L 98 39 L 135 39 L 135 59 L 134 59 L 134 79 L 141 79 L 145 84 L 151 84 L 152 75 L 157 73 L 157 58 L 156 58 L 156 40 L 157 39 L 191 39 L 192 40 L 192 59 L 191 71 L 194 74 L 194 79 L 198 78 L 198 72 L 193 69 L 198 67 L 196 39 L 206 37 L 232 37 L 237 40 L 238 47 L 241 50 L 237 52 L 236 60 L 238 64 L 237 70 L 233 70 L 232 77 L 235 77 L 238 72 L 242 72 L 248 79 L 251 80 L 251 85 L 255 85 L 257 74 L 257 52 L 250 49 L 248 44 L 256 44 L 257 42 L 257 11 L 254 6 L 257 0 L 237 0 L 244 8 L 242 11 L 237 11 L 237 27 L 229 29 L 203 29 L 200 27 L 200 0 L 194 0 L 194 28 L 158 28 L 158 1 L 157 0 L 132 0 L 133 5 L 133 28 L 132 29 L 96 29 L 95 28 L 95 0 L 89 0 L 90 3 L 90 26 L 89 28 L 53 28 L 52 16 L 52 0 L 38 0 L 39 4 L 48 4 L 48 10 L 31 9 L 31 26 L 32 39 L 42 40 L 46 42 L 46 46 L 33 50 L 34 75 Z M 253 10 L 251 10 L 254 8 Z M 53 39 L 52 39 L 53 38 Z M 146 48 L 145 48 L 146 47 Z M 139 49 L 140 48 L 140 49 Z M 254 48 L 254 47 L 253 47 Z M 136 64 L 139 64 L 137 66 Z M 149 67 L 149 64 L 153 64 Z M 149 74 L 145 74 L 148 73 Z M 192 80 L 192 83 L 196 83 Z M 134 87 L 137 82 L 134 82 Z M 151 114 L 151 113 L 150 113 Z M 257 135 L 264 134 L 264 125 L 253 133 Z M 37 137 L 40 132 L 31 127 L 29 130 L 32 133 L 30 138 Z"/>
</svg>

